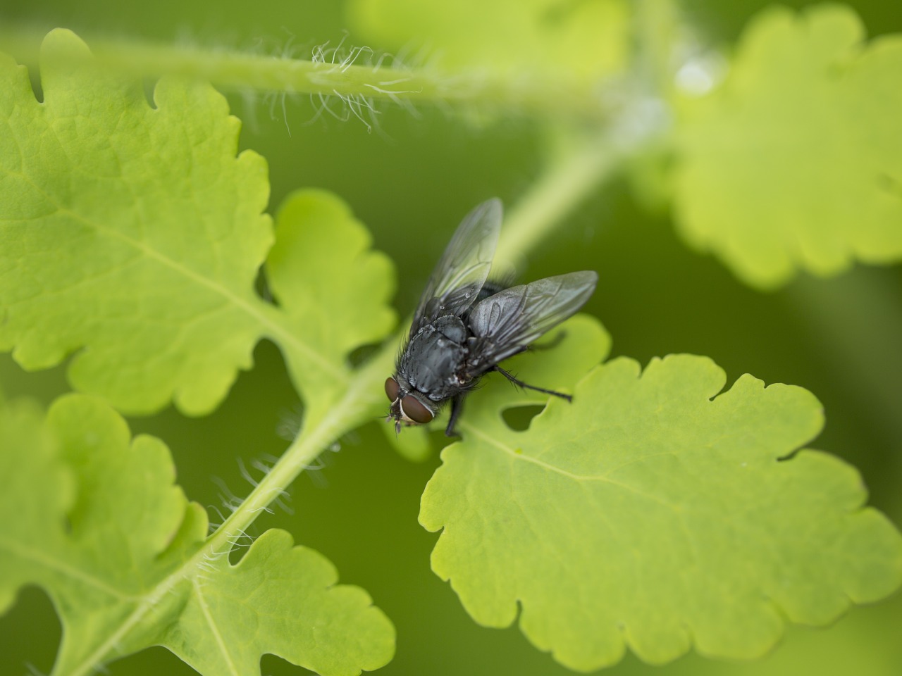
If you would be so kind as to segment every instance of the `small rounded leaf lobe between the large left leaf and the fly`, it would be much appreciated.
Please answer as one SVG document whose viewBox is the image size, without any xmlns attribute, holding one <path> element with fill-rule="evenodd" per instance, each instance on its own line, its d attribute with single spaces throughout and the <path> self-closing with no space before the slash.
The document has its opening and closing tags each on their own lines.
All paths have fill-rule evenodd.
<svg viewBox="0 0 902 676">
<path fill-rule="evenodd" d="M 325 190 L 286 197 L 276 234 L 266 270 L 284 318 L 273 338 L 298 390 L 315 393 L 307 419 L 319 418 L 351 377 L 346 355 L 378 342 L 396 323 L 388 305 L 394 269 L 385 254 L 371 251 L 372 238 L 350 207 Z"/>
</svg>

